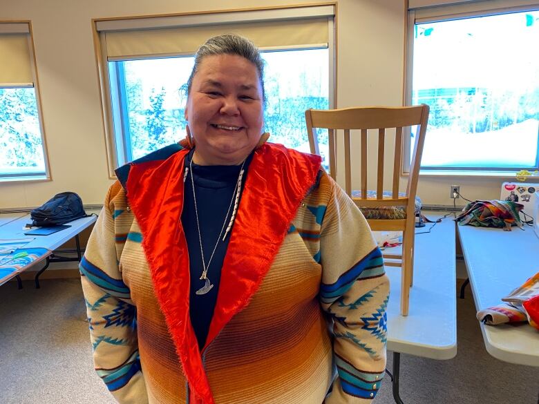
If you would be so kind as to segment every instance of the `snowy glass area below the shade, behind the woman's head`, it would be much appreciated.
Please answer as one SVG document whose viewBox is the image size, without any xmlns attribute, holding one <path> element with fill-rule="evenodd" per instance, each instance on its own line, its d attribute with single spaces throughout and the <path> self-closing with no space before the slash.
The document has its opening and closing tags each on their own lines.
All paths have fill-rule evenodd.
<svg viewBox="0 0 539 404">
<path fill-rule="evenodd" d="M 272 142 L 308 152 L 305 110 L 329 106 L 328 49 L 262 55 L 266 62 L 265 131 Z M 185 137 L 185 83 L 192 67 L 193 57 L 108 62 L 117 104 L 113 120 L 119 123 L 117 155 L 124 155 L 125 162 Z"/>
</svg>

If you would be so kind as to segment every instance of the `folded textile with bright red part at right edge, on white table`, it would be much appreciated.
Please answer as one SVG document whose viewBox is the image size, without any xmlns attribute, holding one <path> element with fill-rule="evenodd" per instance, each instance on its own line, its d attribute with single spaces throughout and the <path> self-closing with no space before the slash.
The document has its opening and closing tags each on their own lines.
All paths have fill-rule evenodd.
<svg viewBox="0 0 539 404">
<path fill-rule="evenodd" d="M 539 272 L 502 298 L 503 303 L 477 311 L 477 320 L 488 325 L 528 321 L 539 329 Z"/>
</svg>

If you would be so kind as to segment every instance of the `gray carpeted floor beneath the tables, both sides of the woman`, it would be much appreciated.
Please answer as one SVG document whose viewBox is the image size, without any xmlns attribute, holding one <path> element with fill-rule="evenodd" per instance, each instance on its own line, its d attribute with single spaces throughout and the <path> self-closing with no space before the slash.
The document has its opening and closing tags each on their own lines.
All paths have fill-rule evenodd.
<svg viewBox="0 0 539 404">
<path fill-rule="evenodd" d="M 466 297 L 457 299 L 455 358 L 401 355 L 404 403 L 538 404 L 539 367 L 491 357 L 484 348 L 469 289 Z M 83 319 L 77 279 L 42 280 L 41 289 L 30 281 L 20 291 L 14 282 L 0 287 L 0 404 L 115 403 L 93 372 Z M 392 359 L 389 352 L 389 367 Z M 389 377 L 382 386 L 374 403 L 395 403 Z"/>
</svg>

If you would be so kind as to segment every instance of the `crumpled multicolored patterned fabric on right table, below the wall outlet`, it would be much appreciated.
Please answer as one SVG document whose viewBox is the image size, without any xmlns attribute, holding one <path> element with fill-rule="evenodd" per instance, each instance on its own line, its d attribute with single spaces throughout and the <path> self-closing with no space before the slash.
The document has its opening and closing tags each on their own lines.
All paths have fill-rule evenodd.
<svg viewBox="0 0 539 404">
<path fill-rule="evenodd" d="M 500 227 L 511 231 L 511 225 L 522 227 L 518 212 L 524 206 L 506 200 L 476 200 L 469 202 L 455 220 L 461 226 L 471 224 L 475 227 Z"/>
</svg>

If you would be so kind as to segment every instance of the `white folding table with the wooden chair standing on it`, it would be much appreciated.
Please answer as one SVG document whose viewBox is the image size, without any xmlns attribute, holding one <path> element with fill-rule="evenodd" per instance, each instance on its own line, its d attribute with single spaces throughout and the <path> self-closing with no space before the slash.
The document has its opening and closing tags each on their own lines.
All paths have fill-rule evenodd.
<svg viewBox="0 0 539 404">
<path fill-rule="evenodd" d="M 429 213 L 429 217 L 437 220 L 442 214 Z M 393 351 L 393 397 L 399 404 L 403 403 L 399 396 L 400 354 L 439 360 L 457 355 L 455 222 L 450 216 L 432 226 L 428 223 L 415 229 L 413 287 L 406 317 L 399 314 L 401 269 L 386 267 L 390 278 L 387 347 Z M 429 229 L 430 233 L 423 233 Z"/>
</svg>

